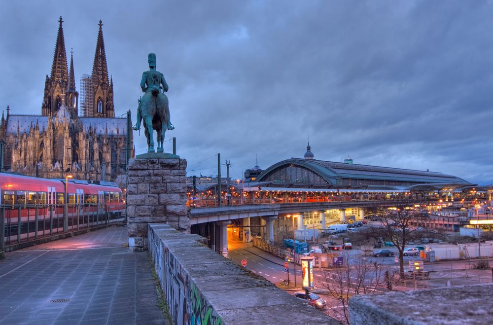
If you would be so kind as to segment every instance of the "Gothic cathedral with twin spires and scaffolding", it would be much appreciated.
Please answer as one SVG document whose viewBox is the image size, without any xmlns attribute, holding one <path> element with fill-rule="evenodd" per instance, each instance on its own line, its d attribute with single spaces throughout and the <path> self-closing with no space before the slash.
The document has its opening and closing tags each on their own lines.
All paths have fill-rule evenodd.
<svg viewBox="0 0 493 325">
<path fill-rule="evenodd" d="M 67 65 L 62 17 L 51 74 L 46 75 L 41 115 L 2 113 L 3 170 L 27 176 L 88 181 L 117 181 L 134 156 L 132 133 L 127 143 L 127 118 L 115 118 L 113 80 L 108 77 L 102 22 L 92 75 L 81 78 L 81 101 L 75 89 L 73 52 Z M 129 124 L 131 125 L 131 124 Z M 121 177 L 120 177 L 121 179 Z"/>
</svg>

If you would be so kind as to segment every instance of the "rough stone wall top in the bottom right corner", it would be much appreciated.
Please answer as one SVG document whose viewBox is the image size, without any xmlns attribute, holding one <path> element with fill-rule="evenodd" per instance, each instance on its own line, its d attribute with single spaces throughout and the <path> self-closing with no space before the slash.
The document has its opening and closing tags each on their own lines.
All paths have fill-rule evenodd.
<svg viewBox="0 0 493 325">
<path fill-rule="evenodd" d="M 357 295 L 354 325 L 493 324 L 493 284 Z"/>
</svg>

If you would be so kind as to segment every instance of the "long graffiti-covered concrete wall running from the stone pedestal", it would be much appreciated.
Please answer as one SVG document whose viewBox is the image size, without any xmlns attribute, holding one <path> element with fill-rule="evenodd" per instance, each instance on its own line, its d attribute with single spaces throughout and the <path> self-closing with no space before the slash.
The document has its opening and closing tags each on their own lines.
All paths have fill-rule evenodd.
<svg viewBox="0 0 493 325">
<path fill-rule="evenodd" d="M 175 324 L 339 324 L 212 252 L 205 239 L 149 224 L 149 252 Z"/>
</svg>

